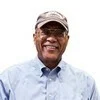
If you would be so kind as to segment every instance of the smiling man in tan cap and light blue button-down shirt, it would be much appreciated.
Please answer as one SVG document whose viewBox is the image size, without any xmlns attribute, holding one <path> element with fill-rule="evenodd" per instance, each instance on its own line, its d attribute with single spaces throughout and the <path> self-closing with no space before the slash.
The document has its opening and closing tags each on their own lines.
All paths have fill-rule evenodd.
<svg viewBox="0 0 100 100">
<path fill-rule="evenodd" d="M 37 57 L 1 74 L 0 100 L 100 100 L 94 79 L 62 60 L 68 33 L 65 16 L 42 13 L 33 34 Z"/>
</svg>

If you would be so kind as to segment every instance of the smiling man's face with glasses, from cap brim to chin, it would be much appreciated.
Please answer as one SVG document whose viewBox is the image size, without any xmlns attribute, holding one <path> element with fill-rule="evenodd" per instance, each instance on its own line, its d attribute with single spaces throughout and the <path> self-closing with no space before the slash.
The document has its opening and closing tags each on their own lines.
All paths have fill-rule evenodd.
<svg viewBox="0 0 100 100">
<path fill-rule="evenodd" d="M 36 29 L 34 41 L 38 57 L 42 61 L 60 61 L 68 43 L 69 36 L 61 24 L 49 22 Z"/>
</svg>

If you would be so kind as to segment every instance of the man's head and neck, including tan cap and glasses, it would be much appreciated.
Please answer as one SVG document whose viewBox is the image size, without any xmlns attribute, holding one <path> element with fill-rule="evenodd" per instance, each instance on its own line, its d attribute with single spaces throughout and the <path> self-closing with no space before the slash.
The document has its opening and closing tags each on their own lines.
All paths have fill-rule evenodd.
<svg viewBox="0 0 100 100">
<path fill-rule="evenodd" d="M 33 34 L 39 59 L 49 68 L 57 66 L 68 43 L 67 19 L 56 11 L 41 14 Z"/>
</svg>

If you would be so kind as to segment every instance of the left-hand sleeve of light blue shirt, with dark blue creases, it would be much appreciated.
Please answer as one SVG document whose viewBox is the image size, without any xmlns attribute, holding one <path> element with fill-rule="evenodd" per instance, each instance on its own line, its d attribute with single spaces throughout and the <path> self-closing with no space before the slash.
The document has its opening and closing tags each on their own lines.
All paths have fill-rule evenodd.
<svg viewBox="0 0 100 100">
<path fill-rule="evenodd" d="M 0 100 L 15 100 L 8 71 L 0 74 Z"/>
</svg>

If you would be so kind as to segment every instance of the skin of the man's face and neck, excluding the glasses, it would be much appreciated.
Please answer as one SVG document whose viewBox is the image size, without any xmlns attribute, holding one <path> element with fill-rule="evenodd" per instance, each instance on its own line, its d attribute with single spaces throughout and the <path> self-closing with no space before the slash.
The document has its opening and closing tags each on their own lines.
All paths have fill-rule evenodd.
<svg viewBox="0 0 100 100">
<path fill-rule="evenodd" d="M 61 24 L 57 22 L 49 22 L 45 24 L 42 28 L 58 28 L 64 29 Z M 58 37 L 51 35 L 42 35 L 42 28 L 36 29 L 36 33 L 33 35 L 36 49 L 38 52 L 39 59 L 44 63 L 44 65 L 50 69 L 57 66 L 64 53 L 69 36 L 66 34 L 64 37 Z"/>
</svg>

